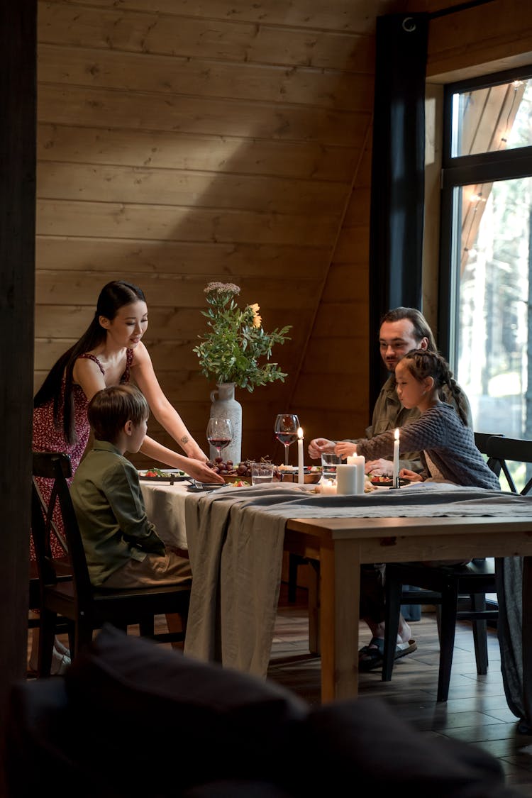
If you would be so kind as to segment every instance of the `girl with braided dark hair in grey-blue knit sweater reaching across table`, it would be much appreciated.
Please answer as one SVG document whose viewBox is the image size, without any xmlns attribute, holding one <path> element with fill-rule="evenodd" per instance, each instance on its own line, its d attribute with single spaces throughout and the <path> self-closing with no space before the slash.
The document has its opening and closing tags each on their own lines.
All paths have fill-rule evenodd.
<svg viewBox="0 0 532 798">
<path fill-rule="evenodd" d="M 439 399 L 443 385 L 456 397 L 458 413 Z M 419 450 L 424 466 L 420 474 L 404 468 L 400 476 L 412 481 L 431 478 L 500 490 L 499 480 L 475 446 L 473 430 L 467 426 L 465 410 L 459 403 L 459 389 L 441 355 L 429 350 L 405 354 L 396 365 L 396 390 L 404 407 L 416 407 L 421 413 L 415 421 L 401 427 L 400 447 L 405 452 Z M 366 460 L 376 460 L 392 455 L 393 444 L 394 432 L 390 429 L 358 444 L 341 441 L 334 451 L 341 457 L 357 453 Z"/>
</svg>

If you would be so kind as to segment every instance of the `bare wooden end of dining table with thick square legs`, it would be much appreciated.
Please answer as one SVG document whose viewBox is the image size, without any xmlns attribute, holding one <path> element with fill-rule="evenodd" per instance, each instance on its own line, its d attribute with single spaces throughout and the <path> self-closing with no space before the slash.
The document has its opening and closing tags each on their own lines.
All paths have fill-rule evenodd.
<svg viewBox="0 0 532 798">
<path fill-rule="evenodd" d="M 532 629 L 532 518 L 292 518 L 285 548 L 320 561 L 321 700 L 358 693 L 360 566 L 408 560 L 522 555 L 522 628 Z M 523 634 L 523 674 L 532 635 Z M 532 685 L 524 679 L 527 717 Z"/>
</svg>

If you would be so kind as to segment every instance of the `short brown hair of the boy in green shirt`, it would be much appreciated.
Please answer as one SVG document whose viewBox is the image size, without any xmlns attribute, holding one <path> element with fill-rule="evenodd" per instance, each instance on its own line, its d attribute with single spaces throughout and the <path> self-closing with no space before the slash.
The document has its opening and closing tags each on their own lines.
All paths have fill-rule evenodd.
<svg viewBox="0 0 532 798">
<path fill-rule="evenodd" d="M 94 394 L 87 417 L 97 440 L 114 443 L 128 421 L 139 425 L 146 421 L 150 408 L 144 393 L 134 385 L 111 385 Z"/>
</svg>

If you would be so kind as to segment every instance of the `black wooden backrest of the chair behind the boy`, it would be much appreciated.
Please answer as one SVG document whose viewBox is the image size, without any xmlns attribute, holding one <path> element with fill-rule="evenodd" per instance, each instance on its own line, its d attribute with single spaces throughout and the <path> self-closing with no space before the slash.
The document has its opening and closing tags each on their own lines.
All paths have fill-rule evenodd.
<svg viewBox="0 0 532 798">
<path fill-rule="evenodd" d="M 83 606 L 85 602 L 92 601 L 93 587 L 89 579 L 83 539 L 81 538 L 76 512 L 70 497 L 69 484 L 66 481 L 69 476 L 72 476 L 69 456 L 61 452 L 33 452 L 33 476 L 53 480 L 52 494 L 48 506 L 43 502 L 37 484 L 33 480 L 32 525 L 33 523 L 35 524 L 33 541 L 35 543 L 37 561 L 41 559 L 45 583 L 49 583 L 46 582 L 49 579 L 57 582 L 57 579 L 53 579 L 53 563 L 49 561 L 51 558 L 49 558 L 49 551 L 46 550 L 46 526 L 49 525 L 49 519 L 51 519 L 53 508 L 57 501 L 64 524 L 69 558 L 72 563 L 77 602 L 80 606 Z M 35 517 L 33 518 L 33 516 Z M 39 539 L 39 551 L 37 551 L 37 538 Z"/>
</svg>

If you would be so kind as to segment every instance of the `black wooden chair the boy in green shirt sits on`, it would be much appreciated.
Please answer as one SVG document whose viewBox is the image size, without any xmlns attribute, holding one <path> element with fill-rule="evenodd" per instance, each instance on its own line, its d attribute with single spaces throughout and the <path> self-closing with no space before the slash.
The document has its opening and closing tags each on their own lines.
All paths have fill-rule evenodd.
<svg viewBox="0 0 532 798">
<path fill-rule="evenodd" d="M 41 634 L 39 641 L 39 676 L 49 676 L 53 638 L 57 617 L 73 622 L 74 642 L 72 656 L 93 639 L 93 631 L 104 622 L 127 630 L 138 624 L 140 635 L 156 642 L 184 640 L 187 623 L 190 586 L 165 585 L 139 587 L 131 590 L 95 588 L 89 579 L 85 550 L 70 498 L 68 477 L 71 475 L 70 459 L 65 454 L 33 452 L 33 476 L 54 480 L 53 499 L 57 499 L 65 526 L 73 579 L 60 581 L 53 560 L 45 547 L 46 514 L 36 485 L 32 490 L 32 533 L 35 542 L 40 582 Z M 48 509 L 49 514 L 53 512 Z M 154 618 L 159 614 L 179 614 L 183 631 L 154 634 Z"/>
</svg>

